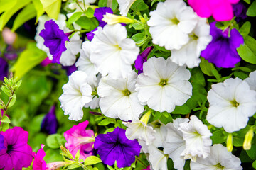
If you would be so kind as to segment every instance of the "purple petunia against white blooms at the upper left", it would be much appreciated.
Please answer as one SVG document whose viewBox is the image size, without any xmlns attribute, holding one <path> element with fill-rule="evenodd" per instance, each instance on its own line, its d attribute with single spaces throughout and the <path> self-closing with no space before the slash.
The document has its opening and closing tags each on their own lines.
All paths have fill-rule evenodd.
<svg viewBox="0 0 256 170">
<path fill-rule="evenodd" d="M 53 20 L 46 21 L 45 29 L 41 30 L 39 35 L 45 40 L 43 44 L 49 48 L 50 54 L 53 55 L 53 63 L 60 64 L 60 56 L 63 51 L 67 50 L 65 41 L 69 41 L 68 36 L 59 29 Z"/>
</svg>

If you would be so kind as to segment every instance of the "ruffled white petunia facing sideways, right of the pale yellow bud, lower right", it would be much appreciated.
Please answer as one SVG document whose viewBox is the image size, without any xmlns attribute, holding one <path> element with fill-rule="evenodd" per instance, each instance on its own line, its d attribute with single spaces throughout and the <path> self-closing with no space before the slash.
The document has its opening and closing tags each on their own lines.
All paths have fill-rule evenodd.
<svg viewBox="0 0 256 170">
<path fill-rule="evenodd" d="M 181 156 L 196 162 L 197 157 L 206 158 L 210 154 L 210 146 L 212 145 L 210 136 L 212 134 L 196 115 L 192 115 L 190 119 L 188 123 L 180 123 L 178 128 L 186 141 L 186 149 L 181 153 Z"/>
</svg>

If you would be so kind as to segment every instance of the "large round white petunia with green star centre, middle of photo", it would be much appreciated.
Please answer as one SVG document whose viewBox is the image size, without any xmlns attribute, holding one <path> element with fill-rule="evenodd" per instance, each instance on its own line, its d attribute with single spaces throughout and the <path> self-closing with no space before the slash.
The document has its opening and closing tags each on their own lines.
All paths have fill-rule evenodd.
<svg viewBox="0 0 256 170">
<path fill-rule="evenodd" d="M 183 105 L 192 95 L 188 81 L 191 74 L 186 67 L 162 57 L 151 57 L 144 62 L 143 71 L 136 84 L 138 98 L 155 111 L 174 111 L 176 105 Z"/>
</svg>

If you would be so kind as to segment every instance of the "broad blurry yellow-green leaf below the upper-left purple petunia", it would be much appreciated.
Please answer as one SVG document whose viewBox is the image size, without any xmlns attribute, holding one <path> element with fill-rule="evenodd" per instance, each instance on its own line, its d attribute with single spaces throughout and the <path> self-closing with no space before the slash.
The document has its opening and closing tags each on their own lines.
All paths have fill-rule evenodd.
<svg viewBox="0 0 256 170">
<path fill-rule="evenodd" d="M 36 42 L 29 42 L 26 50 L 21 52 L 17 62 L 11 68 L 11 71 L 15 72 L 14 77 L 21 79 L 26 72 L 41 63 L 46 57 L 46 52 L 39 50 L 36 47 Z"/>
</svg>

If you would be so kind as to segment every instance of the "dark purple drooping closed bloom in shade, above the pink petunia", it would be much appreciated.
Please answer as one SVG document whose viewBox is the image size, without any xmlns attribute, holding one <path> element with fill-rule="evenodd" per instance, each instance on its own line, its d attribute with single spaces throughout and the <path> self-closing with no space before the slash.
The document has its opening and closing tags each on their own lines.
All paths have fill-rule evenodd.
<svg viewBox="0 0 256 170">
<path fill-rule="evenodd" d="M 54 134 L 57 132 L 58 120 L 55 115 L 55 105 L 50 108 L 49 113 L 43 118 L 41 123 L 41 131 L 48 134 Z"/>
</svg>

